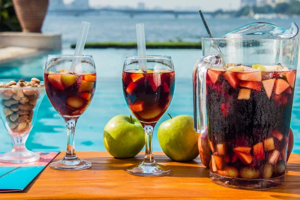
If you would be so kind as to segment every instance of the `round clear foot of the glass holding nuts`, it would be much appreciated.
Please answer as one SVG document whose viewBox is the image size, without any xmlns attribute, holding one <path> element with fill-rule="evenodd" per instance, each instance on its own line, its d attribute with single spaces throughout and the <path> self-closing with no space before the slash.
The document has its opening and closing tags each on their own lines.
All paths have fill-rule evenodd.
<svg viewBox="0 0 300 200">
<path fill-rule="evenodd" d="M 10 150 L 0 155 L 0 162 L 5 163 L 28 163 L 39 159 L 39 154 L 24 149 L 21 151 Z"/>
</svg>

